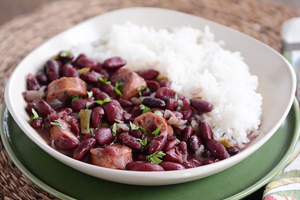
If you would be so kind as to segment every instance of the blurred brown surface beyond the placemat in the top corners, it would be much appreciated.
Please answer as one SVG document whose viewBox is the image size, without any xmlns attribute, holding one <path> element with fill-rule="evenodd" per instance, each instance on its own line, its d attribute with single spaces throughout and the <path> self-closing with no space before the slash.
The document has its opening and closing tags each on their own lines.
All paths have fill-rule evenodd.
<svg viewBox="0 0 300 200">
<path fill-rule="evenodd" d="M 0 0 L 0 25 L 15 16 L 28 13 L 40 4 L 57 0 Z M 300 12 L 300 0 L 269 0 Z M 280 11 L 280 10 L 278 10 Z"/>
</svg>

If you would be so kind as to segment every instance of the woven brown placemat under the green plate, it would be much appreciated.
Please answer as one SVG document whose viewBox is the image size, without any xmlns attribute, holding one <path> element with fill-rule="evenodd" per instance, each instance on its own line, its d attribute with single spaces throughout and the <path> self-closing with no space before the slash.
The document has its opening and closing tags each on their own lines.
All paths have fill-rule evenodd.
<svg viewBox="0 0 300 200">
<path fill-rule="evenodd" d="M 240 30 L 280 51 L 281 23 L 300 16 L 265 0 L 58 0 L 0 26 L 0 104 L 15 66 L 42 42 L 103 12 L 131 6 L 175 9 Z M 55 199 L 15 167 L 0 142 L 0 199 Z"/>
</svg>

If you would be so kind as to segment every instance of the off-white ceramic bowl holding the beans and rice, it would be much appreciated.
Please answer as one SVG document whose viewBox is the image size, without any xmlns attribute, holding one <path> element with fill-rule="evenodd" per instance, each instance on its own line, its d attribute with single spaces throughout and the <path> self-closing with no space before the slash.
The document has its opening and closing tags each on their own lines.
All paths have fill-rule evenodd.
<svg viewBox="0 0 300 200">
<path fill-rule="evenodd" d="M 143 16 L 143 17 L 140 17 Z M 260 130 L 262 137 L 251 142 L 242 152 L 219 162 L 190 169 L 176 171 L 126 171 L 103 168 L 67 157 L 52 149 L 29 125 L 25 112 L 25 101 L 22 91 L 26 90 L 26 75 L 35 73 L 43 63 L 61 49 L 68 49 L 81 42 L 97 40 L 101 32 L 113 23 L 133 23 L 167 28 L 178 25 L 189 25 L 202 29 L 209 25 L 216 40 L 222 39 L 224 48 L 240 51 L 250 72 L 258 76 L 258 92 L 263 96 Z M 116 182 L 160 185 L 174 184 L 199 179 L 222 171 L 249 156 L 264 144 L 283 122 L 293 102 L 296 77 L 292 66 L 277 51 L 241 32 L 199 18 L 190 14 L 153 7 L 132 7 L 110 11 L 88 19 L 74 27 L 61 32 L 29 53 L 15 68 L 5 87 L 4 99 L 12 117 L 39 147 L 61 162 L 87 174 Z M 34 155 L 32 155 L 34 156 Z"/>
</svg>

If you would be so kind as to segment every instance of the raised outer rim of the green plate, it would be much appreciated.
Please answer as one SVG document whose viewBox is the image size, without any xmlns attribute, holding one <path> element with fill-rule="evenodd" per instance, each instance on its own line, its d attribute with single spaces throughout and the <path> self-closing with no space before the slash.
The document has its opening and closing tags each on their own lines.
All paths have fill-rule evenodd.
<svg viewBox="0 0 300 200">
<path fill-rule="evenodd" d="M 247 187 L 246 189 L 233 194 L 227 198 L 225 198 L 224 200 L 235 200 L 235 199 L 241 199 L 244 198 L 248 195 L 250 195 L 251 193 L 253 193 L 254 191 L 258 190 L 259 188 L 261 188 L 263 185 L 265 185 L 267 182 L 269 182 L 286 164 L 286 162 L 288 161 L 288 159 L 291 156 L 291 152 L 294 150 L 297 141 L 300 137 L 300 125 L 299 125 L 299 117 L 300 117 L 300 110 L 299 110 L 299 104 L 298 101 L 296 100 L 296 98 L 294 98 L 293 104 L 291 109 L 293 109 L 294 111 L 294 115 L 295 115 L 295 124 L 294 124 L 294 134 L 292 135 L 292 137 L 290 138 L 290 145 L 288 146 L 288 148 L 286 148 L 285 150 L 285 154 L 283 157 L 281 157 L 280 161 L 274 165 L 273 169 L 270 170 L 267 174 L 265 174 L 263 177 L 261 177 L 255 184 L 252 184 L 251 186 Z M 11 143 L 7 137 L 6 132 L 8 130 L 5 129 L 5 120 L 4 118 L 7 116 L 8 114 L 8 110 L 6 108 L 5 103 L 3 102 L 2 104 L 2 108 L 1 108 L 1 112 L 0 112 L 0 137 L 3 143 L 3 146 L 8 154 L 8 156 L 11 158 L 12 162 L 15 164 L 15 166 L 30 180 L 32 181 L 36 186 L 38 186 L 39 188 L 41 188 L 42 190 L 46 191 L 47 193 L 59 198 L 59 199 L 76 199 L 73 198 L 69 195 L 66 195 L 52 187 L 50 187 L 49 185 L 47 185 L 46 183 L 42 182 L 41 180 L 39 180 L 35 175 L 33 175 L 18 159 L 16 152 L 14 152 L 14 150 L 12 149 L 12 147 L 10 146 Z"/>
</svg>

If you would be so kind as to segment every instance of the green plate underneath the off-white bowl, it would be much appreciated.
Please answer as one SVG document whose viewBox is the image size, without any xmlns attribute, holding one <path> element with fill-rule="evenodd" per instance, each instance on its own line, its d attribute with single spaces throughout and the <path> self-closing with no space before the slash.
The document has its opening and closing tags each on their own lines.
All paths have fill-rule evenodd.
<svg viewBox="0 0 300 200">
<path fill-rule="evenodd" d="M 14 164 L 37 186 L 61 199 L 241 199 L 282 169 L 300 134 L 299 107 L 294 100 L 275 134 L 238 164 L 191 182 L 137 186 L 99 179 L 54 159 L 21 131 L 5 104 L 0 121 L 1 139 Z"/>
</svg>

